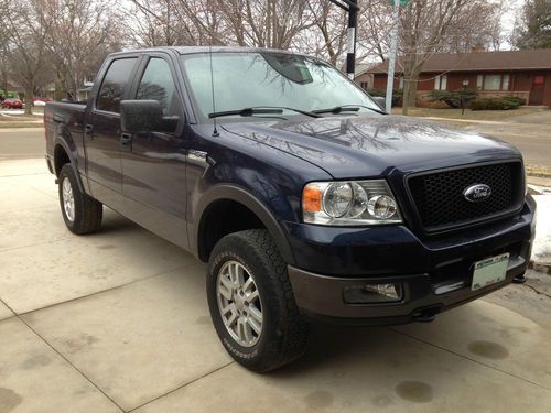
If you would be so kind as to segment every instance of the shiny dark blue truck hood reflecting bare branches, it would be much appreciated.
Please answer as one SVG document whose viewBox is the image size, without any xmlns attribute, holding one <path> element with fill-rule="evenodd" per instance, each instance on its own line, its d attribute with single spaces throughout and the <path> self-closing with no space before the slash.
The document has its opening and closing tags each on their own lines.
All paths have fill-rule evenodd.
<svg viewBox="0 0 551 413">
<path fill-rule="evenodd" d="M 238 122 L 225 123 L 223 129 L 301 157 L 335 178 L 520 157 L 514 146 L 503 141 L 402 116 Z"/>
</svg>

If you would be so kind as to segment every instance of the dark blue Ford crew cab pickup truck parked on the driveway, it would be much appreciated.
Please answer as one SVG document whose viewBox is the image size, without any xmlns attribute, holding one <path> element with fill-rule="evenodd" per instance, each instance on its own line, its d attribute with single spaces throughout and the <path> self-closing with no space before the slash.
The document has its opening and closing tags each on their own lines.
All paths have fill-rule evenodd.
<svg viewBox="0 0 551 413">
<path fill-rule="evenodd" d="M 426 322 L 528 265 L 515 148 L 387 115 L 316 58 L 117 53 L 44 123 L 67 228 L 99 230 L 105 205 L 208 262 L 216 332 L 255 371 L 300 357 L 311 318 Z"/>
</svg>

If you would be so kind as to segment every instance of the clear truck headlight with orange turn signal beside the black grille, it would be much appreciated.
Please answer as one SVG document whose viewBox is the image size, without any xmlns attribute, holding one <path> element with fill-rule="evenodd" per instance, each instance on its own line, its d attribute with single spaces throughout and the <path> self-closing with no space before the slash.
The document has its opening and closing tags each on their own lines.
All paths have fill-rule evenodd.
<svg viewBox="0 0 551 413">
<path fill-rule="evenodd" d="M 312 182 L 302 193 L 304 222 L 363 226 L 401 222 L 385 180 Z"/>
</svg>

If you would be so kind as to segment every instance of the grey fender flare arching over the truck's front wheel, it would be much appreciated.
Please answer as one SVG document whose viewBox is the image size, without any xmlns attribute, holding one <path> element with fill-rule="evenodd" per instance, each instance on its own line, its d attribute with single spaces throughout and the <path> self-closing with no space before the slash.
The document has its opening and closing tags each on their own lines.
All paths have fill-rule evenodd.
<svg viewBox="0 0 551 413">
<path fill-rule="evenodd" d="M 196 257 L 201 259 L 202 246 L 199 244 L 199 235 L 202 231 L 204 214 L 208 209 L 210 205 L 213 205 L 217 200 L 234 200 L 239 204 L 242 204 L 247 208 L 249 208 L 256 216 L 260 219 L 263 226 L 267 228 L 268 232 L 272 236 L 276 244 L 279 248 L 281 257 L 283 261 L 288 264 L 294 263 L 294 256 L 291 249 L 291 244 L 289 243 L 285 231 L 282 226 L 278 222 L 273 214 L 270 209 L 260 202 L 256 196 L 244 189 L 242 187 L 235 185 L 225 185 L 219 184 L 210 189 L 208 189 L 202 197 L 195 208 L 194 221 L 192 225 L 191 236 L 194 237 L 191 239 L 194 242 L 190 242 L 193 252 Z"/>
</svg>

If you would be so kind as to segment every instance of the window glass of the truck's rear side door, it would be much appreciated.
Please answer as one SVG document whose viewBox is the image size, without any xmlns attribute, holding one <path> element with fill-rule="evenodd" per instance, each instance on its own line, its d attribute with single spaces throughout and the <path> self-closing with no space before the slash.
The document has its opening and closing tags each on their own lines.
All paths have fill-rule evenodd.
<svg viewBox="0 0 551 413">
<path fill-rule="evenodd" d="M 120 101 L 125 96 L 125 87 L 130 79 L 134 63 L 136 57 L 119 58 L 111 62 L 99 89 L 96 109 L 115 113 L 120 112 Z"/>
</svg>

